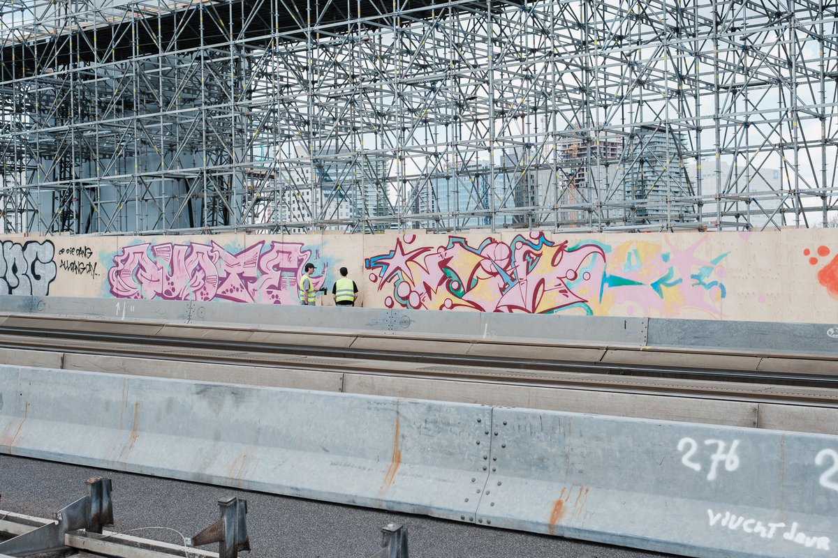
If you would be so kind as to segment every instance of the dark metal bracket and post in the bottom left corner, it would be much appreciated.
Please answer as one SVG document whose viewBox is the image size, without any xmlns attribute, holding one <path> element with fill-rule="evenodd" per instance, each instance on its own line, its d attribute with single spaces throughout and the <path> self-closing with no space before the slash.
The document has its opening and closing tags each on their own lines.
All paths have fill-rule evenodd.
<svg viewBox="0 0 838 558">
<path fill-rule="evenodd" d="M 61 509 L 54 520 L 38 529 L 0 543 L 0 555 L 28 556 L 65 548 L 65 535 L 84 529 L 101 533 L 103 525 L 113 525 L 111 479 L 93 477 L 85 481 L 87 495 Z"/>
</svg>

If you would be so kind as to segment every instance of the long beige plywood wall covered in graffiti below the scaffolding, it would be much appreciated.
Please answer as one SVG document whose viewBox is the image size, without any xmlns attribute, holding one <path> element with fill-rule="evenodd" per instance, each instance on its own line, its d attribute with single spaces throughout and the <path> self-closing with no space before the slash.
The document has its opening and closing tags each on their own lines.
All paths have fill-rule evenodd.
<svg viewBox="0 0 838 558">
<path fill-rule="evenodd" d="M 359 305 L 371 308 L 838 322 L 838 229 L 830 228 L 4 240 L 38 245 L 30 255 L 49 259 L 54 277 L 34 289 L 53 295 L 297 304 L 297 279 L 312 261 L 329 290 L 347 267 Z M 547 289 L 530 292 L 540 279 Z M 332 305 L 331 294 L 321 304 Z"/>
</svg>

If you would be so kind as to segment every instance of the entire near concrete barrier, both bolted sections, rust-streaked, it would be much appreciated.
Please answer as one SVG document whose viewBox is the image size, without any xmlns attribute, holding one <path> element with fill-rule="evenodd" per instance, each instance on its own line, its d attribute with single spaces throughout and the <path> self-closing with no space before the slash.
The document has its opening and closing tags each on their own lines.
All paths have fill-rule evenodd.
<svg viewBox="0 0 838 558">
<path fill-rule="evenodd" d="M 0 366 L 0 452 L 704 557 L 838 550 L 838 437 Z"/>
</svg>

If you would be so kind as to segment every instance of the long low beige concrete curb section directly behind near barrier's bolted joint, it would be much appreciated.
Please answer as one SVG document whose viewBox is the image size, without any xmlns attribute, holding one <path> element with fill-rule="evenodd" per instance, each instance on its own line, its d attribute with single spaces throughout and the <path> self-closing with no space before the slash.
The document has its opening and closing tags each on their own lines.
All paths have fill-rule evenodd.
<svg viewBox="0 0 838 558">
<path fill-rule="evenodd" d="M 428 381 L 349 373 L 344 375 L 344 392 L 738 427 L 753 427 L 757 424 L 757 407 L 753 403 L 691 397 L 522 387 L 468 381 Z"/>
</svg>

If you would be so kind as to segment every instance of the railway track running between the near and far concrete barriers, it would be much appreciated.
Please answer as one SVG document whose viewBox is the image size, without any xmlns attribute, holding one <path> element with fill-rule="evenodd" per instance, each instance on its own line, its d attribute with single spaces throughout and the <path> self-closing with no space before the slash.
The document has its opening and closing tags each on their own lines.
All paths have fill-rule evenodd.
<svg viewBox="0 0 838 558">
<path fill-rule="evenodd" d="M 345 376 L 388 376 L 414 381 L 448 381 L 484 384 L 495 391 L 504 386 L 584 390 L 588 392 L 619 392 L 634 395 L 691 397 L 706 400 L 727 400 L 753 403 L 775 403 L 811 407 L 838 407 L 838 373 L 835 362 L 812 356 L 734 354 L 701 355 L 695 352 L 659 351 L 670 356 L 665 366 L 638 365 L 630 362 L 563 360 L 559 357 L 587 356 L 592 347 L 530 346 L 531 357 L 520 356 L 521 346 L 509 345 L 510 354 L 455 353 L 451 349 L 463 340 L 432 340 L 380 338 L 382 346 L 397 345 L 397 350 L 370 348 L 370 343 L 346 346 L 351 334 L 346 332 L 301 334 L 287 331 L 247 330 L 241 328 L 201 328 L 194 326 L 108 322 L 107 320 L 36 320 L 25 318 L 25 324 L 0 327 L 0 348 L 6 350 L 9 364 L 27 364 L 20 357 L 31 351 L 49 353 L 59 358 L 59 367 L 75 370 L 93 369 L 132 374 L 188 377 L 194 380 L 223 381 L 227 369 L 235 383 L 260 383 L 286 386 L 287 376 L 295 378 L 292 387 L 322 388 L 317 381 L 301 384 L 299 372 L 339 376 L 338 389 L 343 389 Z M 168 329 L 163 335 L 160 330 Z M 180 333 L 182 335 L 172 335 Z M 261 333 L 262 340 L 247 340 Z M 227 336 L 228 339 L 224 339 Z M 338 340 L 327 346 L 323 337 Z M 355 336 L 357 337 L 357 335 Z M 287 341 L 296 340 L 297 344 Z M 283 342 L 284 341 L 284 342 Z M 414 346 L 411 347 L 411 343 Z M 448 349 L 427 353 L 436 343 Z M 454 346 L 452 346 L 454 345 Z M 473 346 L 473 343 L 469 343 Z M 406 349 L 412 348 L 412 351 Z M 459 347 L 463 349 L 463 347 Z M 526 347 L 525 347 L 526 349 Z M 556 350 L 561 354 L 556 355 Z M 21 352 L 23 351 L 23 353 Z M 618 351 L 631 355 L 620 347 Z M 648 350 L 647 350 L 648 351 Z M 492 352 L 492 351 L 488 351 Z M 14 356 L 18 354 L 18 357 Z M 553 358 L 544 358 L 553 356 Z M 697 366 L 702 360 L 741 364 L 742 359 L 760 358 L 782 361 L 776 369 L 708 368 Z M 681 361 L 682 366 L 674 366 Z M 798 362 L 800 371 L 789 372 L 789 362 Z M 806 366 L 814 370 L 803 370 Z M 684 366 L 689 364 L 692 366 Z M 215 366 L 202 373 L 202 367 Z M 166 370 L 168 369 L 168 373 Z M 256 371 L 248 378 L 248 370 Z M 273 371 L 271 374 L 270 371 Z M 273 377 L 271 377 L 273 376 Z M 456 393 L 453 398 L 462 399 Z"/>
</svg>

